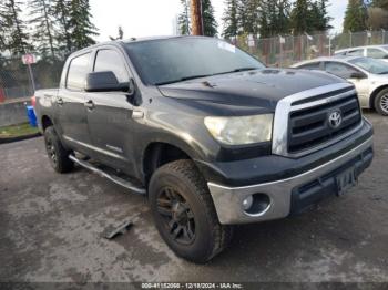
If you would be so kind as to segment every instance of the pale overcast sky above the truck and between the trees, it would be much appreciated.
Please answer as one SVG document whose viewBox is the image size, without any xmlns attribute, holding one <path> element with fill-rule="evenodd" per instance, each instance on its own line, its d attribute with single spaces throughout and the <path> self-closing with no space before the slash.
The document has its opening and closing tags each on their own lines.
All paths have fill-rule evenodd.
<svg viewBox="0 0 388 290">
<path fill-rule="evenodd" d="M 187 0 L 188 1 L 188 0 Z M 270 0 L 268 0 L 270 1 Z M 329 0 L 329 14 L 334 31 L 340 32 L 347 0 Z M 215 15 L 222 30 L 224 0 L 212 0 Z M 118 35 L 118 27 L 124 30 L 124 38 L 142 38 L 173 34 L 173 21 L 182 12 L 180 0 L 90 0 L 93 23 L 106 41 Z"/>
</svg>

